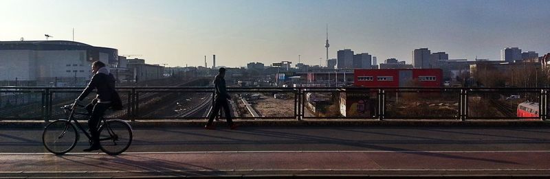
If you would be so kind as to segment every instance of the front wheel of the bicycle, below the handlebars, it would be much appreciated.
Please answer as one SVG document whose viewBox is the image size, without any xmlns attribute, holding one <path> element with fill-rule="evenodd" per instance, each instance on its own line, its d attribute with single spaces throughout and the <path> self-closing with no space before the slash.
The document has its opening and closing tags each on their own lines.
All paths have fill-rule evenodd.
<svg viewBox="0 0 550 179">
<path fill-rule="evenodd" d="M 78 131 L 66 119 L 48 124 L 42 133 L 42 143 L 47 151 L 61 155 L 71 151 L 78 141 Z"/>
</svg>

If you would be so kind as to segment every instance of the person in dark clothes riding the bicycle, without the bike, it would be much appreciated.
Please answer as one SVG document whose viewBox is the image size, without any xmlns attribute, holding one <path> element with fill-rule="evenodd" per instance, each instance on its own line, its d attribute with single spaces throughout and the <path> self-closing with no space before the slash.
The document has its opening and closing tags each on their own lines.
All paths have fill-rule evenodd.
<svg viewBox="0 0 550 179">
<path fill-rule="evenodd" d="M 97 95 L 90 104 L 86 106 L 86 110 L 90 115 L 88 119 L 88 126 L 91 135 L 91 146 L 84 150 L 84 152 L 91 152 L 99 150 L 99 134 L 98 124 L 101 117 L 103 117 L 105 110 L 111 107 L 113 100 L 113 91 L 115 91 L 115 77 L 109 73 L 109 69 L 105 67 L 105 64 L 100 61 L 96 61 L 91 65 L 91 73 L 94 76 L 91 77 L 90 83 L 84 89 L 84 91 L 78 96 L 75 104 L 82 104 L 83 99 L 91 93 L 94 89 L 97 90 Z"/>
</svg>

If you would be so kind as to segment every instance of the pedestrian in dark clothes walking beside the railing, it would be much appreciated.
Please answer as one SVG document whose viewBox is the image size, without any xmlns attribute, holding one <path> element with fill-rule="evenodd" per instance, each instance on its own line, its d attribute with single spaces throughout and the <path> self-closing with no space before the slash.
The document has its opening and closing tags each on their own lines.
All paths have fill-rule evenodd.
<svg viewBox="0 0 550 179">
<path fill-rule="evenodd" d="M 230 100 L 231 97 L 228 94 L 227 87 L 225 86 L 225 79 L 223 77 L 225 77 L 225 68 L 220 68 L 218 70 L 218 75 L 214 77 L 214 92 L 216 93 L 216 95 L 214 96 L 214 104 L 212 104 L 212 110 L 210 110 L 208 123 L 206 123 L 206 126 L 204 126 L 204 128 L 207 130 L 216 129 L 212 125 L 212 122 L 214 121 L 214 118 L 219 117 L 220 108 L 223 108 L 225 119 L 227 119 L 228 121 L 229 128 L 232 130 L 237 128 L 237 125 L 234 124 L 231 119 L 232 117 L 228 104 L 228 100 Z"/>
</svg>

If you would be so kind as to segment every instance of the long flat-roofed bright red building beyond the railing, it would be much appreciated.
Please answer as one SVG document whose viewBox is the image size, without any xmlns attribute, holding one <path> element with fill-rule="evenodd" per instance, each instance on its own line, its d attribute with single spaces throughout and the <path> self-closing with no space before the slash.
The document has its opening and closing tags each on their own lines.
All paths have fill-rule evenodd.
<svg viewBox="0 0 550 179">
<path fill-rule="evenodd" d="M 354 85 L 366 87 L 440 87 L 441 69 L 355 69 Z"/>
</svg>

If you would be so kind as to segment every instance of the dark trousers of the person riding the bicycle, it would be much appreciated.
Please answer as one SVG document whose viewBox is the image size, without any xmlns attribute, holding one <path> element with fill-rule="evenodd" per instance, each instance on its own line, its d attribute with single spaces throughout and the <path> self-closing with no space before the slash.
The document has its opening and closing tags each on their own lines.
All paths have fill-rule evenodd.
<svg viewBox="0 0 550 179">
<path fill-rule="evenodd" d="M 88 126 L 90 128 L 91 141 L 95 145 L 99 144 L 98 125 L 100 119 L 101 117 L 103 117 L 105 110 L 107 110 L 110 106 L 111 104 L 102 103 L 88 104 L 88 106 L 86 106 L 86 110 L 88 110 L 88 113 L 90 114 L 90 118 L 88 119 Z"/>
</svg>

